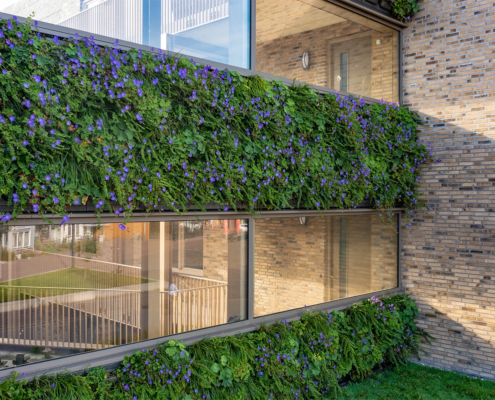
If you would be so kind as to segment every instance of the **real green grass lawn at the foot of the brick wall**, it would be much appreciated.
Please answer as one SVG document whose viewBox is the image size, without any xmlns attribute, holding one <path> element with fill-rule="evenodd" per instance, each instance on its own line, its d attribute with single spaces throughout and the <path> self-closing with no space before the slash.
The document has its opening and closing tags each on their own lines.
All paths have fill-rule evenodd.
<svg viewBox="0 0 495 400">
<path fill-rule="evenodd" d="M 350 383 L 341 399 L 495 399 L 495 382 L 413 363 Z"/>
</svg>

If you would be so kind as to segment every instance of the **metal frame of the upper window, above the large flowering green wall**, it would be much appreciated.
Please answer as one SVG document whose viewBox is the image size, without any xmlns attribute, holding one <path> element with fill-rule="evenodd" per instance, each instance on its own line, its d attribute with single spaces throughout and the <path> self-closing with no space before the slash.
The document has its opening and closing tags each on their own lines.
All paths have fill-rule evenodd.
<svg viewBox="0 0 495 400">
<path fill-rule="evenodd" d="M 357 3 L 353 3 L 352 0 L 324 0 L 324 1 L 326 1 L 328 3 L 332 3 L 332 4 L 338 6 L 342 9 L 346 9 L 346 10 L 351 11 L 353 13 L 362 15 L 366 18 L 369 18 L 370 20 L 373 20 L 375 22 L 378 22 L 380 24 L 383 24 L 383 25 L 386 25 L 390 28 L 395 29 L 399 35 L 398 51 L 399 52 L 402 51 L 400 32 L 402 29 L 404 29 L 407 26 L 406 24 L 404 24 L 398 20 L 394 20 L 393 18 L 387 17 L 383 14 L 380 14 L 380 13 L 373 11 L 369 8 L 366 8 L 364 6 L 361 6 Z M 220 70 L 228 69 L 230 71 L 236 71 L 243 76 L 258 75 L 262 78 L 265 78 L 268 81 L 278 80 L 287 86 L 291 86 L 294 84 L 295 85 L 306 85 L 306 86 L 311 87 L 315 92 L 320 93 L 320 94 L 335 93 L 336 90 L 332 89 L 332 88 L 327 88 L 327 87 L 319 86 L 319 85 L 313 85 L 311 83 L 307 83 L 307 82 L 303 82 L 303 81 L 295 81 L 295 80 L 291 80 L 288 78 L 284 78 L 284 77 L 280 77 L 280 76 L 276 76 L 276 75 L 272 75 L 272 74 L 267 74 L 267 73 L 260 72 L 260 71 L 256 70 L 256 0 L 251 0 L 250 5 L 251 5 L 251 8 L 250 8 L 250 11 L 251 11 L 251 13 L 250 13 L 251 14 L 250 15 L 250 29 L 251 29 L 251 32 L 250 32 L 250 68 L 249 69 L 240 68 L 240 67 L 236 67 L 233 65 L 209 61 L 209 60 L 199 58 L 199 57 L 194 57 L 194 61 L 196 61 L 198 64 L 210 65 L 210 66 L 212 66 L 214 68 L 218 68 Z M 13 14 L 7 14 L 7 13 L 0 12 L 0 19 L 8 19 L 8 18 L 12 18 L 12 17 L 14 17 Z M 24 17 L 17 17 L 17 19 L 20 22 L 25 22 L 27 20 L 27 18 L 24 18 Z M 74 37 L 74 35 L 76 33 L 80 37 L 92 36 L 94 38 L 94 41 L 97 44 L 104 45 L 104 46 L 113 46 L 115 43 L 115 40 L 116 40 L 115 38 L 111 38 L 108 36 L 97 35 L 97 34 L 94 34 L 91 32 L 67 28 L 64 26 L 60 26 L 60 25 L 56 25 L 56 24 L 52 24 L 52 23 L 47 23 L 47 22 L 41 22 L 41 21 L 38 22 L 37 29 L 41 33 L 46 33 L 49 35 L 57 35 L 57 36 L 62 37 L 62 38 L 72 38 L 72 37 Z M 140 49 L 140 50 L 147 51 L 150 53 L 158 53 L 161 51 L 161 52 L 165 52 L 166 54 L 173 54 L 173 55 L 177 55 L 180 57 L 184 56 L 182 54 L 174 53 L 172 51 L 160 50 L 160 49 L 157 49 L 157 48 L 154 48 L 151 46 L 141 45 L 138 43 L 128 42 L 128 41 L 120 40 L 120 39 L 119 39 L 118 43 L 119 43 L 119 47 L 123 50 Z M 185 56 L 185 57 L 189 57 L 189 56 Z M 400 54 L 399 54 L 399 57 L 400 57 Z M 398 95 L 399 95 L 400 101 L 402 101 L 402 99 L 401 99 L 401 94 L 402 94 L 401 93 L 402 92 L 401 91 L 401 70 L 400 69 L 399 69 L 398 85 L 399 85 L 399 88 L 398 88 L 399 94 Z M 374 98 L 366 97 L 366 96 L 356 96 L 356 95 L 353 95 L 352 93 L 347 93 L 347 92 L 339 92 L 339 93 L 342 95 L 346 95 L 346 96 L 352 95 L 352 96 L 355 96 L 355 97 L 360 98 L 360 99 L 362 98 L 368 104 L 381 103 L 380 99 L 374 99 Z"/>
</svg>

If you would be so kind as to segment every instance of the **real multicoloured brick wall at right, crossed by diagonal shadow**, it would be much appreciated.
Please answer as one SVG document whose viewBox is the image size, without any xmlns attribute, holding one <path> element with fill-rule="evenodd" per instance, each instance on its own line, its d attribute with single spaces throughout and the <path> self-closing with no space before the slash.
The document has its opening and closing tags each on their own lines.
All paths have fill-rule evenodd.
<svg viewBox="0 0 495 400">
<path fill-rule="evenodd" d="M 495 378 L 495 23 L 491 1 L 425 0 L 404 31 L 405 105 L 438 164 L 402 243 L 403 283 L 435 337 L 422 362 Z"/>
</svg>

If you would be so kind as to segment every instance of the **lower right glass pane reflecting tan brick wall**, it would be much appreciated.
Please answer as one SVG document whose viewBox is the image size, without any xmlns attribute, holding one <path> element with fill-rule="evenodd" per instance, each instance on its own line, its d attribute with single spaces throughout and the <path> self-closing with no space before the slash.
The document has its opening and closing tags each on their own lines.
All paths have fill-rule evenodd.
<svg viewBox="0 0 495 400">
<path fill-rule="evenodd" d="M 255 317 L 397 287 L 394 218 L 256 219 Z"/>
</svg>

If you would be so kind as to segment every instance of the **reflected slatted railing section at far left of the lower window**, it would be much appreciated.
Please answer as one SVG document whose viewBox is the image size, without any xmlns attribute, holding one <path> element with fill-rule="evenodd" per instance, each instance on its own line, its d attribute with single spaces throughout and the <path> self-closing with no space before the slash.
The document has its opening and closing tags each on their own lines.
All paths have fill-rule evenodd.
<svg viewBox="0 0 495 400">
<path fill-rule="evenodd" d="M 141 291 L 0 286 L 0 343 L 102 349 L 140 336 Z"/>
</svg>

